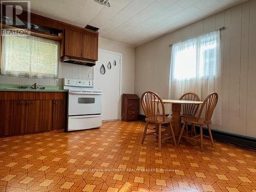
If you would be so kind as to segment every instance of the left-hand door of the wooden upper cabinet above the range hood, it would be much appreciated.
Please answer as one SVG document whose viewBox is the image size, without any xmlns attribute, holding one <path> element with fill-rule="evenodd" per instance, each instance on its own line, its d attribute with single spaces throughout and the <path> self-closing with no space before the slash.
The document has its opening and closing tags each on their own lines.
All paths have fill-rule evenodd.
<svg viewBox="0 0 256 192">
<path fill-rule="evenodd" d="M 65 54 L 67 56 L 82 57 L 82 34 L 65 30 Z"/>
</svg>

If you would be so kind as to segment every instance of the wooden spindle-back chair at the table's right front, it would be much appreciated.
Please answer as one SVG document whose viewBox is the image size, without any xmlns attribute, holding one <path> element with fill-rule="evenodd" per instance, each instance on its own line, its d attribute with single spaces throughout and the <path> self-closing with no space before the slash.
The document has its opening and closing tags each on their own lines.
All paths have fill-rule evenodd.
<svg viewBox="0 0 256 192">
<path fill-rule="evenodd" d="M 214 113 L 214 109 L 217 105 L 217 102 L 218 102 L 218 94 L 210 93 L 204 99 L 204 102 L 201 105 L 201 108 L 200 108 L 200 111 L 199 111 L 199 114 L 197 117 L 184 117 L 183 118 L 184 123 L 181 128 L 181 132 L 180 132 L 179 139 L 178 139 L 178 144 L 180 143 L 181 137 L 195 140 L 195 141 L 198 141 L 197 137 L 200 137 L 201 152 L 202 152 L 203 151 L 203 125 L 206 125 L 208 128 L 211 145 L 212 145 L 212 147 L 214 147 L 214 140 L 212 139 L 212 135 L 211 135 L 211 131 L 210 131 L 210 124 L 211 124 L 211 116 Z M 204 118 L 201 118 L 204 107 L 205 107 L 205 115 L 204 115 Z M 195 124 L 199 125 L 200 126 L 200 135 L 195 135 L 194 137 L 188 137 L 188 135 L 186 133 L 185 133 L 185 135 L 183 135 L 184 128 L 185 128 L 185 126 L 187 126 L 187 123 L 190 123 L 191 126 L 194 126 Z"/>
</svg>

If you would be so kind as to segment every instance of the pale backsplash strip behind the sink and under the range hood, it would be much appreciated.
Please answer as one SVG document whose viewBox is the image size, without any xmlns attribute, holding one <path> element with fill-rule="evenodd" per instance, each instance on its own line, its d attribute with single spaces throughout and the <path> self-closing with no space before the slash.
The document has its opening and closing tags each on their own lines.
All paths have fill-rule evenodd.
<svg viewBox="0 0 256 192">
<path fill-rule="evenodd" d="M 20 84 L 29 85 L 37 82 L 40 86 L 62 86 L 62 78 L 79 78 L 88 79 L 89 74 L 93 74 L 93 67 L 74 65 L 71 63 L 60 63 L 58 77 L 59 81 L 56 84 L 55 79 L 43 79 L 43 78 L 26 78 L 26 77 L 14 77 L 7 75 L 0 75 L 1 84 Z"/>
</svg>

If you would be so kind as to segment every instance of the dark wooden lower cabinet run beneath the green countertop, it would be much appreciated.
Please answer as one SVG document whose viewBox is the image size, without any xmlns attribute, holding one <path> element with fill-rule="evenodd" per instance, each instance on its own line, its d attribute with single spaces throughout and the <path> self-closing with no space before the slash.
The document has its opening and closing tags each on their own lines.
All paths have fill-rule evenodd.
<svg viewBox="0 0 256 192">
<path fill-rule="evenodd" d="M 25 96 L 22 92 L 18 95 L 12 93 L 0 92 L 0 136 L 66 128 L 65 92 L 63 95 L 49 92 L 51 95 L 44 94 L 43 97 L 40 93 L 28 93 Z M 22 100 L 16 100 L 18 97 Z M 35 99 L 24 100 L 26 97 Z"/>
</svg>

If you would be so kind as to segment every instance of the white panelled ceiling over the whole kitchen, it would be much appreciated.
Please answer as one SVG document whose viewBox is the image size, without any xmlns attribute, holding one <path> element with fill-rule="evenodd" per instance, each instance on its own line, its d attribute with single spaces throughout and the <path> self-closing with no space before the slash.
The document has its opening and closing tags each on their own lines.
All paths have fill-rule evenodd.
<svg viewBox="0 0 256 192">
<path fill-rule="evenodd" d="M 132 46 L 189 25 L 246 0 L 33 0 L 32 12 L 79 27 L 92 25 L 102 38 Z"/>
</svg>

